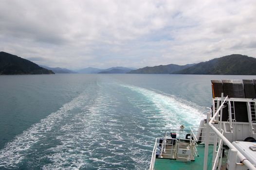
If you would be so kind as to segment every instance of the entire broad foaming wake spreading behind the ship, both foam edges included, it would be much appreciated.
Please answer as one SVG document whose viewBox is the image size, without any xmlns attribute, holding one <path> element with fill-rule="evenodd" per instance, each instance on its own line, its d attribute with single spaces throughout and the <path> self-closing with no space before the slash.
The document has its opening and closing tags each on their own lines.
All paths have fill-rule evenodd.
<svg viewBox="0 0 256 170">
<path fill-rule="evenodd" d="M 190 121 L 193 117 L 196 122 L 204 116 L 197 109 L 199 106 L 193 103 L 153 90 L 123 85 L 136 92 L 134 98 L 127 99 L 132 102 L 132 106 L 135 105 L 143 112 L 132 113 L 133 110 L 126 108 L 126 102 L 122 103 L 111 93 L 108 94 L 111 86 L 106 86 L 103 84 L 95 92 L 97 94 L 94 91 L 91 94 L 80 94 L 57 112 L 16 136 L 0 150 L 0 169 L 19 168 L 28 159 L 34 160 L 29 158 L 33 152 L 42 154 L 36 155 L 39 161 L 48 161 L 35 163 L 45 170 L 108 169 L 112 166 L 116 169 L 146 169 L 151 155 L 150 139 L 158 130 L 155 119 L 158 119 L 157 123 L 170 128 L 179 126 L 182 121 Z M 137 94 L 142 94 L 142 98 Z M 132 121 L 124 120 L 127 118 Z M 50 147 L 42 147 L 46 148 L 45 152 L 37 151 L 42 149 L 38 145 L 44 146 L 56 141 Z M 30 165 L 28 168 L 33 169 Z"/>
</svg>

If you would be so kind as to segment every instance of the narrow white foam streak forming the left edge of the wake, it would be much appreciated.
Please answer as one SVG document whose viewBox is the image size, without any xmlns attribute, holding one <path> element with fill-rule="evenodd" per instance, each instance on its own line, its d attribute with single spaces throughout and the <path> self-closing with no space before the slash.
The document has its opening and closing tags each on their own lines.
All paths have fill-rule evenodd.
<svg viewBox="0 0 256 170">
<path fill-rule="evenodd" d="M 32 125 L 31 128 L 7 143 L 0 150 L 0 168 L 18 168 L 16 165 L 22 161 L 27 155 L 24 153 L 40 140 L 40 136 L 50 133 L 52 128 L 60 122 L 68 112 L 76 107 L 80 107 L 84 102 L 84 95 L 80 95 L 71 102 L 64 104 L 57 112 L 50 114 L 45 119 L 41 119 L 39 123 Z"/>
</svg>

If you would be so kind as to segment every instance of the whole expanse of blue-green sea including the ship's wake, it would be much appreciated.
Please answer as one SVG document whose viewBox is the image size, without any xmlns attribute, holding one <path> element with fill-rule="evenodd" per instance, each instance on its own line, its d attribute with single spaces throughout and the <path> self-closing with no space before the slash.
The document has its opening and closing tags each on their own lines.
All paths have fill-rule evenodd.
<svg viewBox="0 0 256 170">
<path fill-rule="evenodd" d="M 0 169 L 147 169 L 165 128 L 197 126 L 212 79 L 256 76 L 0 76 Z"/>
</svg>

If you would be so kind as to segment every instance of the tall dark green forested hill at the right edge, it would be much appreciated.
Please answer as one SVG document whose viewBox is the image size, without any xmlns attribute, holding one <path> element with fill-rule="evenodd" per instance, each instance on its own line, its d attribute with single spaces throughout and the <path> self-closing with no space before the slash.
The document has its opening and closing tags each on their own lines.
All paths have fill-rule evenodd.
<svg viewBox="0 0 256 170">
<path fill-rule="evenodd" d="M 174 72 L 175 74 L 256 75 L 256 58 L 232 54 Z"/>
</svg>

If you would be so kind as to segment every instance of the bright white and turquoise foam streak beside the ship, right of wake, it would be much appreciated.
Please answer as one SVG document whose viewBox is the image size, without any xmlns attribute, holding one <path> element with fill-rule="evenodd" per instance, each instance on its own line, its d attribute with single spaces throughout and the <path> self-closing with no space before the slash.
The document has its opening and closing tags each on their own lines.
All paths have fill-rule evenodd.
<svg viewBox="0 0 256 170">
<path fill-rule="evenodd" d="M 156 93 L 155 91 L 146 88 L 122 85 L 132 91 L 144 95 L 147 101 L 153 103 L 152 107 L 143 108 L 143 112 L 150 113 L 152 110 L 158 109 L 157 114 L 153 115 L 154 118 L 162 118 L 162 123 L 165 123 L 165 128 L 179 128 L 181 124 L 187 126 L 198 126 L 201 119 L 206 116 L 201 113 L 201 110 L 206 110 L 193 102 L 188 102 L 182 99 L 175 98 L 174 96 L 167 96 L 164 94 Z M 141 107 L 141 103 L 137 106 Z M 150 105 L 149 105 L 150 106 Z M 200 110 L 199 110 L 200 108 Z M 207 109 L 208 110 L 208 109 Z"/>
</svg>

